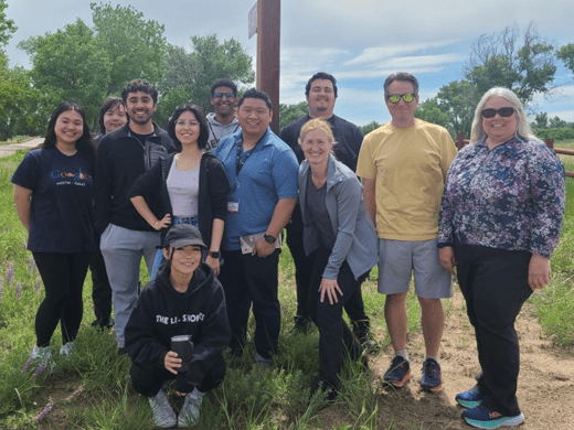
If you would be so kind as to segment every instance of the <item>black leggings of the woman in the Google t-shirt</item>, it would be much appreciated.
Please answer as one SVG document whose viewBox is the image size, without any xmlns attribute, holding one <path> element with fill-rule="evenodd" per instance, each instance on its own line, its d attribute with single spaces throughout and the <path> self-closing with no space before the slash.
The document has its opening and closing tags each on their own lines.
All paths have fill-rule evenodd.
<svg viewBox="0 0 574 430">
<path fill-rule="evenodd" d="M 49 346 L 57 323 L 63 343 L 74 341 L 82 323 L 82 289 L 92 252 L 32 252 L 45 298 L 35 318 L 36 345 Z"/>
</svg>

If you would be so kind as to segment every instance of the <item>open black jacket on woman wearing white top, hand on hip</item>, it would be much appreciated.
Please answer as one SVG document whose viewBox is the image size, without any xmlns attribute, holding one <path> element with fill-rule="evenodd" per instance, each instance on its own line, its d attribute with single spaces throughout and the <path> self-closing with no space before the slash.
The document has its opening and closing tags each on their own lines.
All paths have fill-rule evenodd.
<svg viewBox="0 0 574 430">
<path fill-rule="evenodd" d="M 128 198 L 142 196 L 146 203 L 161 202 L 161 219 L 167 213 L 173 221 L 173 209 L 169 200 L 168 180 L 169 170 L 176 154 L 169 155 L 161 163 L 157 163 L 148 172 L 138 178 L 128 192 Z M 213 218 L 225 221 L 227 214 L 227 196 L 230 194 L 230 181 L 225 174 L 222 162 L 211 152 L 204 152 L 200 163 L 200 190 L 198 202 L 198 222 L 201 236 L 208 247 L 211 244 L 211 230 Z M 150 206 L 151 208 L 151 206 Z M 156 214 L 153 212 L 153 214 Z M 171 226 L 170 226 L 171 227 Z M 166 237 L 168 228 L 161 230 L 161 240 Z"/>
</svg>

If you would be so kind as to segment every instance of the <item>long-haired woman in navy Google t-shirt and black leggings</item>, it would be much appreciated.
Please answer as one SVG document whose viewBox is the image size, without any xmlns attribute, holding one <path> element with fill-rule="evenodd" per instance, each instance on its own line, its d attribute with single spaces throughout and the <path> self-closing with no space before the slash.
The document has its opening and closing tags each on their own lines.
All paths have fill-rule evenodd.
<svg viewBox="0 0 574 430">
<path fill-rule="evenodd" d="M 82 287 L 94 250 L 93 174 L 95 148 L 77 104 L 62 103 L 52 114 L 43 143 L 15 170 L 18 217 L 29 233 L 45 298 L 35 318 L 36 345 L 23 370 L 40 374 L 50 362 L 50 340 L 61 323 L 70 356 L 83 315 Z"/>
</svg>

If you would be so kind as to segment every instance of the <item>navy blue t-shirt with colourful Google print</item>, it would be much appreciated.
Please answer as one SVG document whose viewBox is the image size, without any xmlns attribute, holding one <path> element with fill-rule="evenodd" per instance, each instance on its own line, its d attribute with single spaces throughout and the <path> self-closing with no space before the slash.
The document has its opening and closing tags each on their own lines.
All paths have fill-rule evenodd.
<svg viewBox="0 0 574 430">
<path fill-rule="evenodd" d="M 28 249 L 36 252 L 94 250 L 94 163 L 56 148 L 28 152 L 12 183 L 32 191 Z"/>
</svg>

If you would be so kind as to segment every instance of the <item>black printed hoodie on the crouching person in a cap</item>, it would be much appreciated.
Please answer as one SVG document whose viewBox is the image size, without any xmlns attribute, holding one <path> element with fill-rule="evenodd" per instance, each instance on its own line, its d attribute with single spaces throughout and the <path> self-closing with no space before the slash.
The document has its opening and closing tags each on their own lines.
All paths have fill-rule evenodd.
<svg viewBox="0 0 574 430">
<path fill-rule="evenodd" d="M 126 351 L 135 365 L 166 369 L 171 337 L 191 335 L 195 350 L 188 379 L 200 385 L 231 340 L 225 295 L 204 262 L 184 293 L 176 291 L 169 277 L 166 266 L 141 291 L 126 325 Z"/>
</svg>

